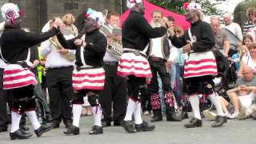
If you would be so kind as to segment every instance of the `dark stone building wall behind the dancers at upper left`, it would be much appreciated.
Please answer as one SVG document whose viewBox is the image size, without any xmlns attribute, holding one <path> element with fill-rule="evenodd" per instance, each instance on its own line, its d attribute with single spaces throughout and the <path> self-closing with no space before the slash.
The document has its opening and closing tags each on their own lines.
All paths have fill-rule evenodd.
<svg viewBox="0 0 256 144">
<path fill-rule="evenodd" d="M 121 13 L 122 2 L 126 0 L 1 0 L 0 6 L 6 2 L 14 2 L 23 10 L 23 27 L 38 32 L 52 17 L 66 13 L 81 14 L 90 7 L 94 10 L 115 10 Z M 0 19 L 2 22 L 2 19 Z"/>
</svg>

